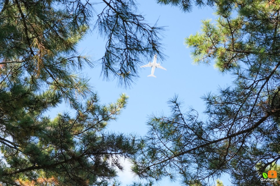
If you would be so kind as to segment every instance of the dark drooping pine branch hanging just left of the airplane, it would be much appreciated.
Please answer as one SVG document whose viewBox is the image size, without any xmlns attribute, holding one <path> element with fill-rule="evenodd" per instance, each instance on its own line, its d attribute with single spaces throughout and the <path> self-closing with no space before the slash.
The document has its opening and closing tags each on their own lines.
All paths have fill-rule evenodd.
<svg viewBox="0 0 280 186">
<path fill-rule="evenodd" d="M 138 65 L 143 57 L 164 57 L 158 37 L 163 30 L 156 25 L 143 22 L 144 17 L 136 14 L 133 0 L 110 1 L 103 12 L 98 14 L 96 25 L 102 36 L 108 38 L 106 52 L 101 59 L 104 78 L 117 77 L 128 86 L 137 77 Z M 110 17 L 108 19 L 108 17 Z"/>
</svg>

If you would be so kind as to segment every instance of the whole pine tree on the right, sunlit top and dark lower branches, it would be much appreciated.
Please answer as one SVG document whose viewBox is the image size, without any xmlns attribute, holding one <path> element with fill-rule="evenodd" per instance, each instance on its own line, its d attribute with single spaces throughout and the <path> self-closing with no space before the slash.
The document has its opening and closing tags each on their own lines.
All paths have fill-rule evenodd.
<svg viewBox="0 0 280 186">
<path fill-rule="evenodd" d="M 190 1 L 159 2 L 182 8 Z M 134 172 L 155 180 L 179 176 L 183 185 L 211 185 L 224 173 L 234 185 L 270 185 L 261 178 L 280 159 L 280 3 L 204 3 L 218 19 L 202 21 L 186 45 L 194 63 L 213 62 L 234 81 L 203 97 L 206 119 L 193 109 L 183 112 L 178 96 L 169 101 L 169 116 L 152 116 Z"/>
</svg>

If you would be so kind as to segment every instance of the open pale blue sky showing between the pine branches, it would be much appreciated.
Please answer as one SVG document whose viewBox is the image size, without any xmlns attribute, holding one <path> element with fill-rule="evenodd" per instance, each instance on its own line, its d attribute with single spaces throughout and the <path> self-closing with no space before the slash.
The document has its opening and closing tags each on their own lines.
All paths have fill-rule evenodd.
<svg viewBox="0 0 280 186">
<path fill-rule="evenodd" d="M 184 109 L 193 107 L 199 112 L 200 118 L 206 118 L 201 114 L 205 109 L 201 96 L 208 92 L 216 92 L 219 86 L 225 87 L 232 80 L 229 75 L 222 75 L 214 69 L 213 64 L 210 66 L 193 65 L 190 49 L 187 49 L 183 42 L 184 38 L 200 30 L 201 20 L 215 19 L 214 10 L 210 7 L 200 10 L 193 7 L 191 13 L 183 13 L 179 8 L 160 6 L 155 0 L 141 0 L 138 3 L 139 13 L 145 15 L 147 23 L 154 24 L 158 20 L 158 26 L 166 26 L 162 43 L 165 45 L 163 53 L 168 57 L 165 61 L 159 59 L 158 62 L 167 71 L 157 68 L 154 72 L 157 78 L 154 78 L 147 77 L 151 73 L 151 68 L 141 68 L 140 78 L 136 84 L 126 90 L 119 88 L 117 81 L 103 81 L 103 78 L 100 77 L 100 66 L 87 68 L 84 73 L 91 78 L 90 83 L 94 90 L 98 91 L 101 103 L 114 102 L 121 93 L 129 96 L 126 109 L 116 122 L 109 124 L 108 130 L 145 135 L 148 116 L 152 113 L 168 115 L 169 108 L 166 102 L 175 94 L 178 94 L 179 98 L 184 101 Z M 101 3 L 98 6 L 102 7 L 104 4 Z M 92 59 L 97 60 L 104 55 L 105 42 L 94 31 L 85 37 L 78 48 L 79 51 L 91 55 Z M 66 108 L 67 110 L 69 109 Z M 50 115 L 54 116 L 58 111 L 61 111 L 61 107 L 52 110 Z M 230 179 L 229 176 L 221 177 L 225 186 L 231 185 L 228 179 Z M 120 175 L 119 180 L 123 185 L 129 184 L 133 180 L 133 175 L 126 171 Z M 170 183 L 165 180 L 158 185 L 175 186 L 179 183 Z"/>
</svg>

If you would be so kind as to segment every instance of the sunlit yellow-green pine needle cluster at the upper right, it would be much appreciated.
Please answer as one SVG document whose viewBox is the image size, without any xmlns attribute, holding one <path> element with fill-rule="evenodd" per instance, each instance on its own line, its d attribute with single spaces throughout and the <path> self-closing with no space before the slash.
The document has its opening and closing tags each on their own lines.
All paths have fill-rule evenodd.
<svg viewBox="0 0 280 186">
<path fill-rule="evenodd" d="M 206 63 L 209 64 L 215 59 L 215 67 L 221 72 L 238 67 L 238 61 L 246 57 L 244 53 L 236 53 L 235 51 L 242 51 L 243 42 L 237 39 L 240 35 L 241 18 L 235 18 L 231 22 L 226 21 L 225 18 L 219 18 L 217 25 L 211 23 L 211 20 L 202 21 L 201 33 L 191 35 L 186 38 L 186 45 L 193 47 L 192 51 L 193 62 L 195 64 Z M 230 24 L 230 29 L 223 27 L 223 25 Z M 234 33 L 231 33 L 234 30 Z M 236 40 L 236 41 L 235 41 Z M 235 43 L 236 42 L 236 43 Z M 235 51 L 232 49 L 235 48 Z"/>
</svg>

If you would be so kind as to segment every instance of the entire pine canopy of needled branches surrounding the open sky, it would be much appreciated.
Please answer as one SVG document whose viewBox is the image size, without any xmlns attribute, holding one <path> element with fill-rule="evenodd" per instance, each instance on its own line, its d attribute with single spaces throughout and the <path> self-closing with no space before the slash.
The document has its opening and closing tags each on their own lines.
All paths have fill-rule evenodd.
<svg viewBox="0 0 280 186">
<path fill-rule="evenodd" d="M 90 29 L 98 29 L 106 38 L 100 59 L 105 79 L 129 86 L 141 59 L 164 57 L 162 28 L 146 23 L 132 0 L 101 2 L 104 8 L 96 12 L 88 0 L 2 1 L 0 184 L 118 185 L 110 181 L 123 168 L 122 157 L 131 159 L 138 176 L 156 181 L 179 175 L 183 185 L 211 185 L 212 178 L 229 173 L 234 185 L 279 184 L 261 183 L 261 176 L 277 170 L 280 159 L 280 3 L 158 0 L 183 12 L 193 5 L 216 10 L 218 19 L 202 21 L 186 45 L 194 63 L 214 62 L 234 81 L 203 97 L 206 119 L 194 109 L 183 112 L 175 96 L 171 114 L 151 116 L 148 134 L 138 139 L 106 132 L 128 96 L 99 103 L 88 78 L 79 74 L 95 63 L 76 47 Z M 45 116 L 63 101 L 74 114 Z"/>
</svg>

